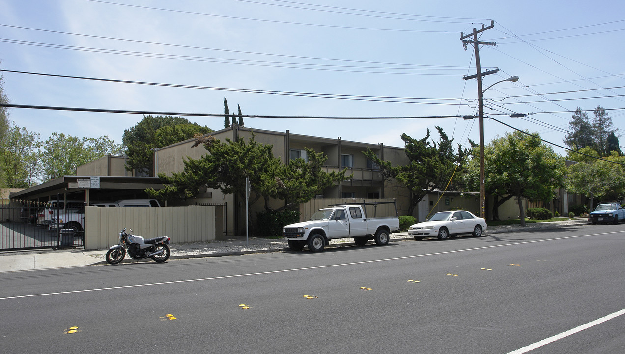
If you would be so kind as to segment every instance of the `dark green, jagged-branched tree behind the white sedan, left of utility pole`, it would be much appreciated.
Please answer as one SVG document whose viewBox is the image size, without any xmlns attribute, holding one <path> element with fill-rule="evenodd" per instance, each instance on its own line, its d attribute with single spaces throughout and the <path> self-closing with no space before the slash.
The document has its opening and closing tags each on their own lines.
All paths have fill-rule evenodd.
<svg viewBox="0 0 625 354">
<path fill-rule="evenodd" d="M 439 142 L 430 141 L 430 131 L 422 139 L 413 139 L 406 133 L 402 134 L 408 163 L 392 166 L 389 161 L 382 161 L 376 154 L 367 148 L 364 155 L 380 167 L 380 173 L 385 181 L 394 179 L 409 190 L 410 204 L 407 215 L 414 213 L 419 201 L 427 193 L 437 189 L 444 189 L 452 178 L 454 171 L 460 174 L 459 165 L 464 164 L 466 149 L 458 146 L 454 152 L 453 139 L 449 139 L 441 127 L 437 126 Z"/>
</svg>

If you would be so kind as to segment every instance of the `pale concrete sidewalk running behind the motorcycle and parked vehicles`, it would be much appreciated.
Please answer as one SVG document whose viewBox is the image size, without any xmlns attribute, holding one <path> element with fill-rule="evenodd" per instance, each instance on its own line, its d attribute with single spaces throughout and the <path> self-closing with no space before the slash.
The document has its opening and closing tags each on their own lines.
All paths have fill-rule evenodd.
<svg viewBox="0 0 625 354">
<path fill-rule="evenodd" d="M 546 230 L 552 228 L 587 225 L 586 219 L 556 221 L 552 223 L 527 224 L 524 228 L 519 225 L 489 226 L 484 232 L 485 236 L 496 233 L 509 233 L 517 231 Z M 391 242 L 412 240 L 407 233 L 393 233 Z M 369 241 L 372 243 L 373 241 Z M 342 247 L 354 245 L 351 238 L 331 240 L 329 247 Z M 284 239 L 249 238 L 244 236 L 231 236 L 227 240 L 212 241 L 205 243 L 191 243 L 186 245 L 169 245 L 171 256 L 169 259 L 200 258 L 211 256 L 246 255 L 249 253 L 269 253 L 289 250 L 287 241 Z M 0 273 L 6 271 L 43 270 L 54 268 L 69 268 L 74 266 L 86 266 L 106 264 L 104 255 L 107 250 L 36 250 L 16 251 L 0 253 Z M 139 260 L 151 261 L 149 259 Z M 128 255 L 124 262 L 136 262 Z"/>
</svg>

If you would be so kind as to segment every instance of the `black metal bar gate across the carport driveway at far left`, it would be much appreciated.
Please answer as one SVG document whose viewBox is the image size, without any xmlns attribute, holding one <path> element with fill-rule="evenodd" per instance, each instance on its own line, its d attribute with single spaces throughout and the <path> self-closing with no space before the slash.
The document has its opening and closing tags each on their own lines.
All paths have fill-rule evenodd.
<svg viewBox="0 0 625 354">
<path fill-rule="evenodd" d="M 50 229 L 41 213 L 41 206 L 0 206 L 0 251 L 84 247 L 84 230 Z"/>
</svg>

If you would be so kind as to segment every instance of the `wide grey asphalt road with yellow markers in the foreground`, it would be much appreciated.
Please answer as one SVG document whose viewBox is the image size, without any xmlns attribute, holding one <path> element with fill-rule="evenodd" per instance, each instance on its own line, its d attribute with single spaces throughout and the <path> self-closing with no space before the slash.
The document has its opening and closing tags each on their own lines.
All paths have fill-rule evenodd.
<svg viewBox="0 0 625 354">
<path fill-rule="evenodd" d="M 0 345 L 4 353 L 624 353 L 624 271 L 619 224 L 2 273 Z"/>
</svg>

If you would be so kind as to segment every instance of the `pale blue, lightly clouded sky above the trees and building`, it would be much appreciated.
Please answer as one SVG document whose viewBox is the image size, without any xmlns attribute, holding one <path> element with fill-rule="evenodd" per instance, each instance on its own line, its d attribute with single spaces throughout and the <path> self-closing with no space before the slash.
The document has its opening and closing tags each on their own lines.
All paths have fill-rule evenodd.
<svg viewBox="0 0 625 354">
<path fill-rule="evenodd" d="M 479 46 L 482 72 L 499 69 L 482 78 L 487 117 L 564 146 L 573 111 L 592 117 L 601 105 L 625 131 L 623 1 L 0 0 L 0 9 L 11 104 L 222 114 L 226 98 L 244 114 L 392 118 L 244 118 L 252 129 L 402 147 L 402 133 L 429 129 L 437 141 L 441 126 L 469 146 L 477 119 L 454 116 L 477 114 L 477 80 L 463 79 L 476 60 L 461 34 L 493 21 L 479 34 L 496 43 Z M 497 83 L 511 76 L 520 79 Z M 222 116 L 185 118 L 224 128 Z M 42 141 L 56 132 L 121 143 L 141 119 L 9 111 Z M 509 126 L 485 119 L 486 143 Z"/>
</svg>

